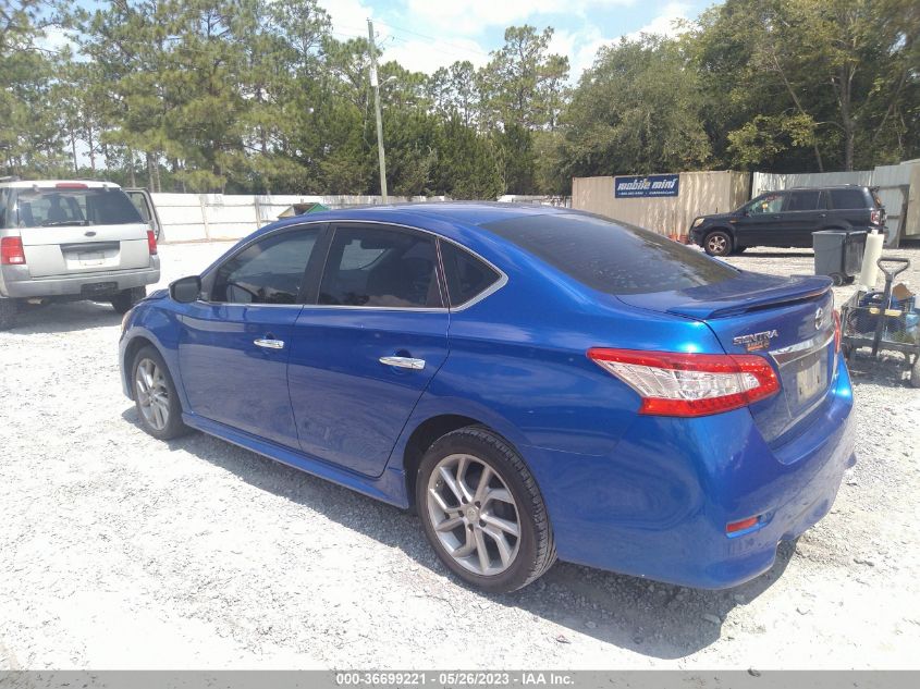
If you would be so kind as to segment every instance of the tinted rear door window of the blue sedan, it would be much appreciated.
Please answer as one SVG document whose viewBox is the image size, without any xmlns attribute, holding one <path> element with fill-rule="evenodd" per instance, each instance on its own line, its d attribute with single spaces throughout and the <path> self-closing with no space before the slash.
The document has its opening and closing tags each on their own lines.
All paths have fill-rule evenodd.
<svg viewBox="0 0 920 689">
<path fill-rule="evenodd" d="M 339 227 L 319 290 L 330 306 L 440 308 L 434 239 L 379 225 Z"/>
</svg>

